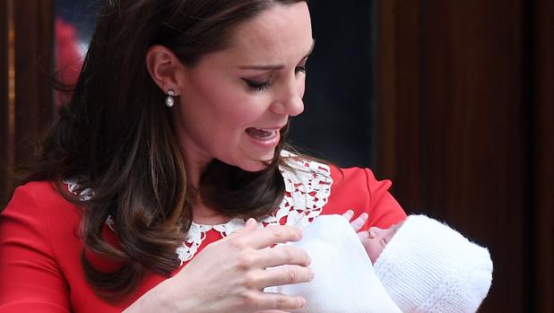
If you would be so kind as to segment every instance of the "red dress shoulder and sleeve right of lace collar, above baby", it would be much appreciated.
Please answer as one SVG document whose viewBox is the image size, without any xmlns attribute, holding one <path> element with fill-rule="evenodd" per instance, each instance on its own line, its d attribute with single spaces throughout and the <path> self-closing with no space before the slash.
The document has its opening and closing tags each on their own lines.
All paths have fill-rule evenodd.
<svg viewBox="0 0 554 313">
<path fill-rule="evenodd" d="M 368 213 L 369 219 L 362 230 L 370 226 L 388 228 L 406 218 L 403 208 L 388 192 L 390 180 L 377 180 L 368 169 L 338 169 L 331 166 L 333 186 L 324 207 L 324 214 L 342 214 L 354 211 L 354 218 Z"/>
</svg>

